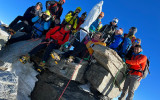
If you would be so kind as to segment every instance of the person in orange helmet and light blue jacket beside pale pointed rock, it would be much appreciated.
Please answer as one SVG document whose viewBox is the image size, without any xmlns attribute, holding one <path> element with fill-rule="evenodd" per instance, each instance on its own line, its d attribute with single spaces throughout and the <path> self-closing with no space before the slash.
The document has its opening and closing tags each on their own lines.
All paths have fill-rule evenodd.
<svg viewBox="0 0 160 100">
<path fill-rule="evenodd" d="M 101 12 L 98 18 L 91 24 L 89 31 L 91 33 L 95 33 L 96 31 L 99 31 L 102 28 L 102 22 L 101 19 L 104 17 L 104 12 Z"/>
</svg>

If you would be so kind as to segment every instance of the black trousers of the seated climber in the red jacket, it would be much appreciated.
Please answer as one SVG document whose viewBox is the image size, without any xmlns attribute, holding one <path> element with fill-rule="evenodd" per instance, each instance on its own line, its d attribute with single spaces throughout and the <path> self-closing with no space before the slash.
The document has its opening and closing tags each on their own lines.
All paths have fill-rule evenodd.
<svg viewBox="0 0 160 100">
<path fill-rule="evenodd" d="M 49 58 L 49 55 L 53 51 L 53 49 L 59 49 L 60 45 L 55 44 L 53 42 L 51 42 L 50 44 L 48 44 L 48 42 L 47 43 L 45 43 L 45 42 L 46 42 L 46 40 L 43 40 L 41 42 L 41 44 L 39 44 L 37 47 L 35 47 L 34 49 L 32 49 L 28 54 L 30 56 L 32 56 L 33 54 L 36 54 L 39 50 L 45 49 L 42 61 L 46 62 L 48 60 L 48 58 Z"/>
</svg>

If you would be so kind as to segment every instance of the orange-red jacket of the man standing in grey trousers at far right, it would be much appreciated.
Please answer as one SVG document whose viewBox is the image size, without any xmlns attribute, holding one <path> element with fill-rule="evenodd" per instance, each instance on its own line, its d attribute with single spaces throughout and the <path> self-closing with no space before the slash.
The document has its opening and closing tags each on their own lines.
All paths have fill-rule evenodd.
<svg viewBox="0 0 160 100">
<path fill-rule="evenodd" d="M 147 62 L 147 57 L 145 55 L 133 55 L 131 60 L 126 60 L 126 63 L 131 65 L 129 69 L 134 69 L 134 70 L 142 70 L 144 71 L 145 65 Z M 141 65 L 141 66 L 140 66 Z M 130 75 L 138 75 L 142 77 L 142 73 L 138 71 L 129 71 Z"/>
</svg>

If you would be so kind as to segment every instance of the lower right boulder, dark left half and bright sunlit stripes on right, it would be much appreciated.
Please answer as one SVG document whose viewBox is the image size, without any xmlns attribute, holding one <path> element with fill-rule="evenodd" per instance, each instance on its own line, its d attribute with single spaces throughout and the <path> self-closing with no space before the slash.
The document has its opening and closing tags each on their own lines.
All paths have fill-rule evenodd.
<svg viewBox="0 0 160 100">
<path fill-rule="evenodd" d="M 100 64 L 92 64 L 87 71 L 87 80 L 92 86 L 103 95 L 109 98 L 117 97 L 121 90 L 115 84 L 115 78 L 111 73 L 102 67 Z M 121 84 L 122 83 L 122 84 Z M 120 87 L 123 87 L 123 80 L 121 80 Z"/>
</svg>

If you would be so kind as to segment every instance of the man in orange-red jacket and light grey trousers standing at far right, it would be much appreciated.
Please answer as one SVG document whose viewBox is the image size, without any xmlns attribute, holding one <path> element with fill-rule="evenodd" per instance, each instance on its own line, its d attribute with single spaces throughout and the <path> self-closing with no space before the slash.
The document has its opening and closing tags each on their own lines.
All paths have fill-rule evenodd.
<svg viewBox="0 0 160 100">
<path fill-rule="evenodd" d="M 126 63 L 130 65 L 129 74 L 125 80 L 122 94 L 118 100 L 133 100 L 134 92 L 140 85 L 140 80 L 143 76 L 142 72 L 144 71 L 147 62 L 147 57 L 142 55 L 141 52 L 141 46 L 136 45 L 131 60 L 126 60 Z M 128 96 L 126 98 L 127 93 Z"/>
</svg>

